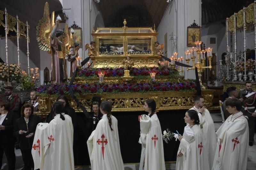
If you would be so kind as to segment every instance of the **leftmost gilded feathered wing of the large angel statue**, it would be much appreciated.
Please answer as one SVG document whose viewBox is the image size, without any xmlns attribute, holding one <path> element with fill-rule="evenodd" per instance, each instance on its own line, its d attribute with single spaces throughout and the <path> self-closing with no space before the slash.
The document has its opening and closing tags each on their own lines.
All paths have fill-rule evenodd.
<svg viewBox="0 0 256 170">
<path fill-rule="evenodd" d="M 49 4 L 46 2 L 44 4 L 44 17 L 39 20 L 36 26 L 36 40 L 39 48 L 42 51 L 50 51 L 50 36 L 51 36 L 51 20 L 50 20 L 50 10 Z"/>
</svg>

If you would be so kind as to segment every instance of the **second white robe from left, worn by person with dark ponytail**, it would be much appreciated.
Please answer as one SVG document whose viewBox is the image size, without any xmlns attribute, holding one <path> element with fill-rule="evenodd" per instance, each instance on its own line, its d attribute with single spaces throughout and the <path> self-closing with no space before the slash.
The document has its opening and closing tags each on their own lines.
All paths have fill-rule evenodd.
<svg viewBox="0 0 256 170">
<path fill-rule="evenodd" d="M 69 115 L 65 120 L 56 115 L 47 128 L 50 145 L 45 153 L 43 170 L 74 170 L 73 124 Z"/>
</svg>

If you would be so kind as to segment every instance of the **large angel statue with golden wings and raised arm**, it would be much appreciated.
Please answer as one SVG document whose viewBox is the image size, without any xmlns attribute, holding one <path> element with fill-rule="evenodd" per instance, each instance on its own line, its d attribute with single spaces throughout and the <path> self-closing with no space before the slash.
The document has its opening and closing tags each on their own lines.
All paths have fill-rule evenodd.
<svg viewBox="0 0 256 170">
<path fill-rule="evenodd" d="M 44 5 L 44 17 L 36 27 L 36 40 L 41 50 L 47 51 L 52 55 L 52 66 L 50 80 L 52 83 L 62 83 L 67 79 L 67 68 L 65 56 L 73 46 L 72 34 L 68 31 L 66 24 L 65 30 L 60 30 L 60 16 L 54 22 L 54 11 L 50 18 L 49 4 Z M 73 44 L 71 44 L 73 42 Z"/>
</svg>

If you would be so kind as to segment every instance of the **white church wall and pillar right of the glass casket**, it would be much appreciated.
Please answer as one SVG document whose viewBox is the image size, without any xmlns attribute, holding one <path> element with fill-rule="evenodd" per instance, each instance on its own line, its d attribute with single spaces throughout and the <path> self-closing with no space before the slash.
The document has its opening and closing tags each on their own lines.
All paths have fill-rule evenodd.
<svg viewBox="0 0 256 170">
<path fill-rule="evenodd" d="M 157 27 L 157 40 L 164 43 L 164 35 L 167 34 L 167 56 L 170 57 L 174 52 L 178 52 L 178 56 L 184 57 L 187 47 L 187 26 L 190 26 L 196 20 L 196 24 L 201 26 L 201 0 L 173 0 L 168 4 L 164 16 Z M 173 41 L 170 40 L 170 34 L 177 37 L 174 40 L 177 48 L 174 47 Z M 166 44 L 165 44 L 166 45 Z M 186 61 L 184 61 L 186 63 Z M 192 65 L 192 61 L 189 63 Z M 196 78 L 195 71 L 185 71 L 185 79 Z"/>
</svg>

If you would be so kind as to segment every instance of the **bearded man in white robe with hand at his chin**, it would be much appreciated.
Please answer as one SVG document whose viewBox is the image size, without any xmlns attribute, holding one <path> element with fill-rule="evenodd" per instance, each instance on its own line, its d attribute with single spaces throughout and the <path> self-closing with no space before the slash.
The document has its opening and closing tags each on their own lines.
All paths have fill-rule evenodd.
<svg viewBox="0 0 256 170">
<path fill-rule="evenodd" d="M 207 151 L 210 169 L 212 169 L 217 138 L 215 133 L 215 126 L 212 120 L 210 112 L 204 107 L 204 97 L 195 96 L 194 97 L 195 106 L 189 110 L 196 110 L 199 120 L 200 127 L 203 132 L 204 138 L 204 148 Z"/>
</svg>

